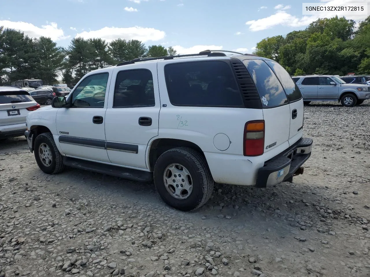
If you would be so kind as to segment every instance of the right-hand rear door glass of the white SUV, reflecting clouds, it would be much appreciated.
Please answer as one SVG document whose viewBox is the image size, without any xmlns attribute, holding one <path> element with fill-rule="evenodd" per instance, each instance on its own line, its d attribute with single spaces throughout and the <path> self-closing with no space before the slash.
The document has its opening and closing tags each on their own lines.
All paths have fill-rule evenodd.
<svg viewBox="0 0 370 277">
<path fill-rule="evenodd" d="M 272 68 L 273 72 L 275 72 L 277 78 L 280 80 L 280 83 L 283 85 L 289 102 L 294 102 L 301 99 L 302 94 L 300 93 L 300 90 L 297 87 L 296 83 L 293 81 L 292 77 L 290 77 L 289 73 L 286 72 L 286 70 L 277 62 L 266 62 L 270 66 L 270 68 Z"/>
</svg>

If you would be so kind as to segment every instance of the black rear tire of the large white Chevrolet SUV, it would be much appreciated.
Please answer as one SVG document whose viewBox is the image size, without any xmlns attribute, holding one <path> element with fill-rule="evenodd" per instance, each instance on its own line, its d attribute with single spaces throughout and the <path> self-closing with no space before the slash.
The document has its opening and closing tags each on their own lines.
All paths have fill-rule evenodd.
<svg viewBox="0 0 370 277">
<path fill-rule="evenodd" d="M 181 172 L 181 174 L 185 172 L 184 175 L 187 171 L 191 176 L 191 182 L 189 182 L 189 178 L 183 179 L 183 176 L 179 177 L 176 173 L 171 175 L 169 173 L 171 168 L 172 171 Z M 175 176 L 177 178 L 176 182 L 174 185 L 171 183 L 171 187 L 170 183 L 165 181 L 165 178 L 172 179 Z M 184 184 L 181 184 L 182 182 Z M 189 183 L 191 183 L 190 192 L 185 189 Z M 209 200 L 213 191 L 213 178 L 205 158 L 199 152 L 188 147 L 172 148 L 159 156 L 154 166 L 154 184 L 162 200 L 167 205 L 180 211 L 193 211 L 200 208 Z M 166 184 L 168 185 L 166 186 Z M 181 188 L 184 185 L 183 189 L 178 187 L 178 191 L 181 190 L 181 193 L 177 194 L 177 198 L 175 195 L 178 191 L 176 191 L 175 184 L 181 186 Z M 172 191 L 171 188 L 173 188 Z M 183 191 L 188 193 L 182 194 Z M 183 198 L 179 199 L 180 196 Z"/>
</svg>

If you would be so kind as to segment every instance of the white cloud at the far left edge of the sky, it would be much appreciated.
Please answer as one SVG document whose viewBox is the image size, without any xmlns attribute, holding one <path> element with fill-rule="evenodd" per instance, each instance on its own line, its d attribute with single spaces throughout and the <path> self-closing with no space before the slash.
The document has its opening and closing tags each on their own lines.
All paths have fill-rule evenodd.
<svg viewBox="0 0 370 277">
<path fill-rule="evenodd" d="M 41 25 L 37 27 L 31 23 L 23 22 L 23 21 L 9 21 L 9 20 L 0 20 L 0 26 L 4 26 L 4 28 L 15 29 L 24 32 L 25 35 L 33 38 L 39 38 L 41 36 L 50 37 L 52 40 L 65 40 L 70 36 L 64 35 L 64 32 L 61 28 L 58 28 L 57 23 L 51 22 L 47 23 L 46 25 Z"/>
</svg>

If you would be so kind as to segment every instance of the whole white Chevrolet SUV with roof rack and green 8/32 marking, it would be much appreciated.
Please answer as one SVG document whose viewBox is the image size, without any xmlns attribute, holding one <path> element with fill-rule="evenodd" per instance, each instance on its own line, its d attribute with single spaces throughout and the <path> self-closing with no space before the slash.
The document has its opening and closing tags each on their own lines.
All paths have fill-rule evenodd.
<svg viewBox="0 0 370 277">
<path fill-rule="evenodd" d="M 268 187 L 303 173 L 303 99 L 275 61 L 228 51 L 139 58 L 85 75 L 27 117 L 40 169 L 138 181 L 190 211 L 213 182 Z M 91 86 L 101 89 L 91 90 Z"/>
</svg>

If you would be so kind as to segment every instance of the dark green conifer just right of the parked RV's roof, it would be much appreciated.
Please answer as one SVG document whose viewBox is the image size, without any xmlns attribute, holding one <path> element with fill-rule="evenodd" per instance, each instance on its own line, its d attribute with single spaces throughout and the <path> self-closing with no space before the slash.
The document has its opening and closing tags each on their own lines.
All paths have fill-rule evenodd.
<svg viewBox="0 0 370 277">
<path fill-rule="evenodd" d="M 57 47 L 57 44 L 47 37 L 35 39 L 34 44 L 39 58 L 36 65 L 37 78 L 43 80 L 45 84 L 52 84 L 61 69 L 64 49 Z"/>
</svg>

